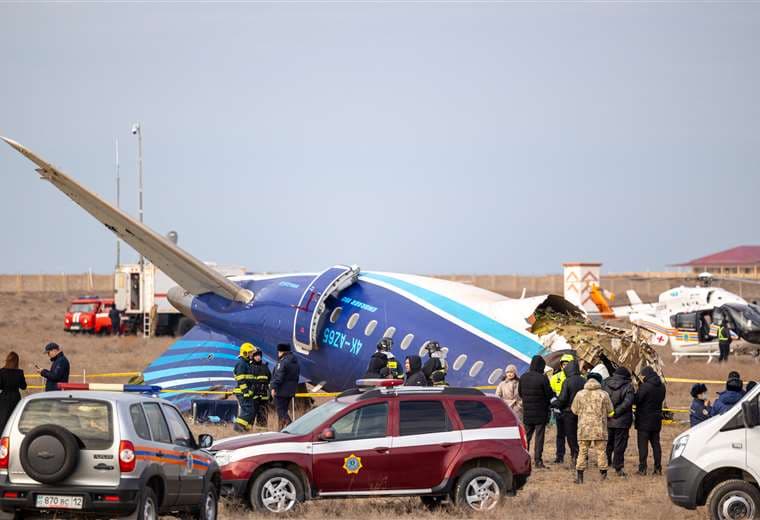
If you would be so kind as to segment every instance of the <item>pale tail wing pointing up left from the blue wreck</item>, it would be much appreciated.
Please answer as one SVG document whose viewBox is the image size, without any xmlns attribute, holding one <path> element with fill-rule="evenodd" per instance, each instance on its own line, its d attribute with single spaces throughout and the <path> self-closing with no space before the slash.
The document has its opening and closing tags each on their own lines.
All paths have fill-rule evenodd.
<svg viewBox="0 0 760 520">
<path fill-rule="evenodd" d="M 42 160 L 28 148 L 12 139 L 2 136 L 0 139 L 36 164 L 39 167 L 37 172 L 43 179 L 50 181 L 71 200 L 113 231 L 116 236 L 158 266 L 186 291 L 192 294 L 214 293 L 243 303 L 253 300 L 251 291 L 228 280 L 176 244 L 113 207 L 52 164 Z"/>
</svg>

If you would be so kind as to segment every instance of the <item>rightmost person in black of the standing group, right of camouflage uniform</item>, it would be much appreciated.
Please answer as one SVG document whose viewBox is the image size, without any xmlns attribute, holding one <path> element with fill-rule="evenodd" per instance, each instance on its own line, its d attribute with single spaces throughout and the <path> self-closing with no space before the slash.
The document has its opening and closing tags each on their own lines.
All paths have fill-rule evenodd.
<svg viewBox="0 0 760 520">
<path fill-rule="evenodd" d="M 665 385 L 652 367 L 644 367 L 641 371 L 641 377 L 643 382 L 639 385 L 639 390 L 634 399 L 636 403 L 636 443 L 639 448 L 638 474 L 647 474 L 647 457 L 651 444 L 654 474 L 662 475 L 660 430 L 662 430 L 662 404 L 665 402 Z"/>
</svg>

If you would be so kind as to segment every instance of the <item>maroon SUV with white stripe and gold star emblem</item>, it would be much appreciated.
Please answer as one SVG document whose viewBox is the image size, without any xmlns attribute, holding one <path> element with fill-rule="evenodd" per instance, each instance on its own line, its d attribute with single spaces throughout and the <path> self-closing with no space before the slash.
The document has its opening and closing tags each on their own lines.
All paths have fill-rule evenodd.
<svg viewBox="0 0 760 520">
<path fill-rule="evenodd" d="M 287 513 L 300 502 L 420 496 L 491 510 L 530 475 L 525 432 L 510 408 L 479 390 L 349 390 L 277 433 L 223 439 L 212 448 L 222 494 Z"/>
</svg>

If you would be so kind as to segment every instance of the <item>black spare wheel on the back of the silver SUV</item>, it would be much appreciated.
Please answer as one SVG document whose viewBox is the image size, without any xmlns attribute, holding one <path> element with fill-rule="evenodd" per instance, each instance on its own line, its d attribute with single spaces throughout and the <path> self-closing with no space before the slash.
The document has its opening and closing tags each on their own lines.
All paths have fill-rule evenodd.
<svg viewBox="0 0 760 520">
<path fill-rule="evenodd" d="M 44 458 L 43 452 L 48 452 Z M 42 424 L 24 436 L 20 455 L 21 467 L 27 475 L 43 484 L 56 484 L 68 478 L 79 465 L 79 441 L 62 426 Z"/>
</svg>

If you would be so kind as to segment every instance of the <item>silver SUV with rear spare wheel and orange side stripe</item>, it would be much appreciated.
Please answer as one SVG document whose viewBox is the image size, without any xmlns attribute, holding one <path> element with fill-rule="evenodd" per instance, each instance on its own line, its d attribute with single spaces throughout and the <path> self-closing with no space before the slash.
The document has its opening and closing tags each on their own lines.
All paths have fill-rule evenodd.
<svg viewBox="0 0 760 520">
<path fill-rule="evenodd" d="M 0 508 L 14 518 L 130 516 L 178 512 L 215 520 L 219 468 L 179 410 L 120 392 L 27 396 L 0 439 Z"/>
</svg>

